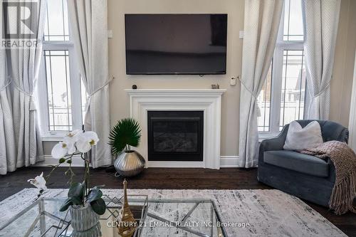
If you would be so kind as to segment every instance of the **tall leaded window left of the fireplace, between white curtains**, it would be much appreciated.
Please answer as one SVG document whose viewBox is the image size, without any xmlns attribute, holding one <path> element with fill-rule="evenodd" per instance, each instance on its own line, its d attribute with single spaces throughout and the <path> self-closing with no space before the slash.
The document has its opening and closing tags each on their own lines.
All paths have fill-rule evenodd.
<svg viewBox="0 0 356 237">
<path fill-rule="evenodd" d="M 48 1 L 38 80 L 39 98 L 43 98 L 39 100 L 43 137 L 61 137 L 70 130 L 80 129 L 85 90 L 70 41 L 66 0 Z"/>
</svg>

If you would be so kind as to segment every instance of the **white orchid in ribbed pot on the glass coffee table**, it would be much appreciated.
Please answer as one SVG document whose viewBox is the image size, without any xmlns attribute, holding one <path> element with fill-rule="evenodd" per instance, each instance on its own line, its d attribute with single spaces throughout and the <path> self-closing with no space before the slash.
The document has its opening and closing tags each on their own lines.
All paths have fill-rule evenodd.
<svg viewBox="0 0 356 237">
<path fill-rule="evenodd" d="M 90 149 L 99 141 L 98 135 L 95 132 L 83 132 L 75 130 L 68 133 L 64 137 L 63 142 L 59 142 L 52 149 L 52 157 L 59 159 L 58 164 L 52 166 L 53 169 L 43 177 L 43 172 L 35 179 L 28 179 L 34 186 L 40 189 L 40 194 L 47 189 L 46 182 L 51 177 L 51 174 L 61 166 L 61 164 L 69 164 L 68 170 L 65 172 L 70 177 L 70 189 L 68 191 L 68 199 L 62 204 L 60 211 L 69 209 L 71 217 L 71 225 L 73 227 L 72 236 L 100 236 L 99 216 L 103 215 L 106 210 L 105 201 L 102 199 L 103 192 L 99 186 L 90 189 L 90 169 L 89 160 L 86 155 Z M 84 180 L 83 182 L 74 182 L 74 172 L 71 167 L 72 159 L 78 156 L 84 161 Z"/>
</svg>

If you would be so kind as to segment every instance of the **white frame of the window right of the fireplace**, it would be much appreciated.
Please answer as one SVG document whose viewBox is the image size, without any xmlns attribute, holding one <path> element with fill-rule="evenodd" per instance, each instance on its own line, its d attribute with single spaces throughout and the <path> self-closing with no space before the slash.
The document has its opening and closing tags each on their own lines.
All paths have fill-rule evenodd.
<svg viewBox="0 0 356 237">
<path fill-rule="evenodd" d="M 286 7 L 286 4 L 284 4 Z M 258 136 L 260 139 L 268 139 L 271 137 L 276 137 L 280 131 L 281 122 L 281 93 L 283 84 L 283 51 L 303 51 L 304 41 L 283 41 L 283 27 L 284 27 L 284 17 L 285 10 L 283 7 L 283 12 L 281 15 L 281 22 L 278 28 L 278 36 L 276 41 L 276 48 L 273 53 L 272 59 L 272 78 L 271 78 L 271 102 L 270 102 L 270 112 L 269 112 L 269 131 L 258 131 Z M 304 14 L 302 14 L 304 18 Z M 305 38 L 305 36 L 304 36 Z M 308 93 L 307 85 L 305 83 L 305 99 L 304 105 L 308 105 Z M 304 115 L 305 115 L 304 106 Z"/>
</svg>

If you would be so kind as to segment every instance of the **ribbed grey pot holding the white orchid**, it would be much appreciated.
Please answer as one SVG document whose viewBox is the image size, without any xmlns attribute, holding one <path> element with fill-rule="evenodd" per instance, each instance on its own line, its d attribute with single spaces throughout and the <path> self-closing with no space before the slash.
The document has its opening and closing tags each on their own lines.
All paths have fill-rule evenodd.
<svg viewBox="0 0 356 237">
<path fill-rule="evenodd" d="M 99 215 L 91 206 L 70 206 L 70 224 L 73 228 L 73 237 L 101 236 Z"/>
</svg>

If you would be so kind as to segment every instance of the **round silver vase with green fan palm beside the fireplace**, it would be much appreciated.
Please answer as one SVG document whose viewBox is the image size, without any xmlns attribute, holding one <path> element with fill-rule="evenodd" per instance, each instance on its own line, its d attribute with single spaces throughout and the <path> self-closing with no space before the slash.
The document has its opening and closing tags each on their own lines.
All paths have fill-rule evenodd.
<svg viewBox="0 0 356 237">
<path fill-rule="evenodd" d="M 112 154 L 117 157 L 114 167 L 117 174 L 132 177 L 145 168 L 145 159 L 140 153 L 131 149 L 140 144 L 141 130 L 139 123 L 133 118 L 124 118 L 112 127 L 110 132 Z M 116 176 L 116 174 L 115 174 Z"/>
</svg>

